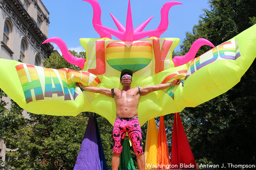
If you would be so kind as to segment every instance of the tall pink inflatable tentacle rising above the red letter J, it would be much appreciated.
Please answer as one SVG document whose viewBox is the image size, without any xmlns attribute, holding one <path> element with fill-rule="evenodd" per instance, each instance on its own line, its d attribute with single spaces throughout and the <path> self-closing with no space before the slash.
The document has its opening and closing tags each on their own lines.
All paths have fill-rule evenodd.
<svg viewBox="0 0 256 170">
<path fill-rule="evenodd" d="M 97 0 L 83 0 L 86 1 L 88 3 L 91 4 L 91 6 L 93 7 L 93 28 L 95 29 L 95 31 L 99 34 L 99 36 L 101 38 L 110 38 L 111 39 L 111 34 L 107 31 L 105 31 L 104 29 L 96 26 L 96 25 L 100 25 L 102 26 L 102 22 L 101 22 L 101 8 L 99 6 L 99 3 Z"/>
</svg>

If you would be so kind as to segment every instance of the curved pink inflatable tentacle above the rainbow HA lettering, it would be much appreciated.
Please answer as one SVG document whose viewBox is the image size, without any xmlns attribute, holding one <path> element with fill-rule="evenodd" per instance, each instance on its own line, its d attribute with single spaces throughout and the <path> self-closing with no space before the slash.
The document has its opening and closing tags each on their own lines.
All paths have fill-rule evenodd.
<svg viewBox="0 0 256 170">
<path fill-rule="evenodd" d="M 66 43 L 61 38 L 59 38 L 59 37 L 51 37 L 51 38 L 48 38 L 47 40 L 45 40 L 42 44 L 47 43 L 47 42 L 53 42 L 56 45 L 58 45 L 58 47 L 60 48 L 61 53 L 62 53 L 64 59 L 67 62 L 69 62 L 70 64 L 73 64 L 73 65 L 77 65 L 81 69 L 84 69 L 84 63 L 86 62 L 86 59 L 73 56 L 70 53 L 70 51 L 67 49 Z"/>
</svg>

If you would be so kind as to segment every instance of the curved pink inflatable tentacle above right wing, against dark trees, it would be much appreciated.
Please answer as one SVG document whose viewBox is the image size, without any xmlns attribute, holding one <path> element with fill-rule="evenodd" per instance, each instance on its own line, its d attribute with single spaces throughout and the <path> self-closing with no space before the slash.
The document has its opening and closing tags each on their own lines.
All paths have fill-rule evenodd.
<svg viewBox="0 0 256 170">
<path fill-rule="evenodd" d="M 187 54 L 185 54 L 184 56 L 175 56 L 172 61 L 175 65 L 175 67 L 179 66 L 179 65 L 183 65 L 188 63 L 189 61 L 191 61 L 192 59 L 195 58 L 195 55 L 197 54 L 199 48 L 203 45 L 209 45 L 211 47 L 215 47 L 212 42 L 204 39 L 204 38 L 199 38 L 198 40 L 196 40 L 191 48 L 189 49 L 189 52 Z"/>
</svg>

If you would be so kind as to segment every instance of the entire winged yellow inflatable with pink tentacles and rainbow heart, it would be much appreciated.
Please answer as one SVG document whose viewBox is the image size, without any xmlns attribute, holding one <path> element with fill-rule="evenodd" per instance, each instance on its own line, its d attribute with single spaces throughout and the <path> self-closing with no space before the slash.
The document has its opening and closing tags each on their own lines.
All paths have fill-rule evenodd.
<svg viewBox="0 0 256 170">
<path fill-rule="evenodd" d="M 58 37 L 47 39 L 59 46 L 63 57 L 81 71 L 42 68 L 14 60 L 0 59 L 0 88 L 21 108 L 39 114 L 76 116 L 84 111 L 98 113 L 113 125 L 116 106 L 113 98 L 82 91 L 76 82 L 99 88 L 122 88 L 123 69 L 134 72 L 132 88 L 181 79 L 179 86 L 152 92 L 140 98 L 139 120 L 143 125 L 157 116 L 195 107 L 225 93 L 236 85 L 256 57 L 256 25 L 214 47 L 198 39 L 185 56 L 172 57 L 178 38 L 160 38 L 168 26 L 169 9 L 181 3 L 167 2 L 155 30 L 143 31 L 149 18 L 133 28 L 130 2 L 126 27 L 111 14 L 118 30 L 102 26 L 99 3 L 93 6 L 93 26 L 101 38 L 80 39 L 87 61 L 70 54 Z M 111 34 L 120 40 L 111 40 Z M 140 40 L 144 37 L 146 39 Z M 202 45 L 213 48 L 195 58 Z"/>
</svg>

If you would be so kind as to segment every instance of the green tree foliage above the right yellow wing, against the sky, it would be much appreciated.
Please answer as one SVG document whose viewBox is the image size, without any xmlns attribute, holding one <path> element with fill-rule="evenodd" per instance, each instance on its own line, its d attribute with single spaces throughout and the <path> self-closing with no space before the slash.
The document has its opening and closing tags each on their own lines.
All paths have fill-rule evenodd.
<svg viewBox="0 0 256 170">
<path fill-rule="evenodd" d="M 186 32 L 186 38 L 180 45 L 181 50 L 176 51 L 176 54 L 186 54 L 198 38 L 205 38 L 215 46 L 230 40 L 256 23 L 255 8 L 255 0 L 209 0 L 209 10 L 203 9 L 201 20 L 192 32 Z M 197 57 L 209 49 L 211 47 L 204 45 Z"/>
</svg>

